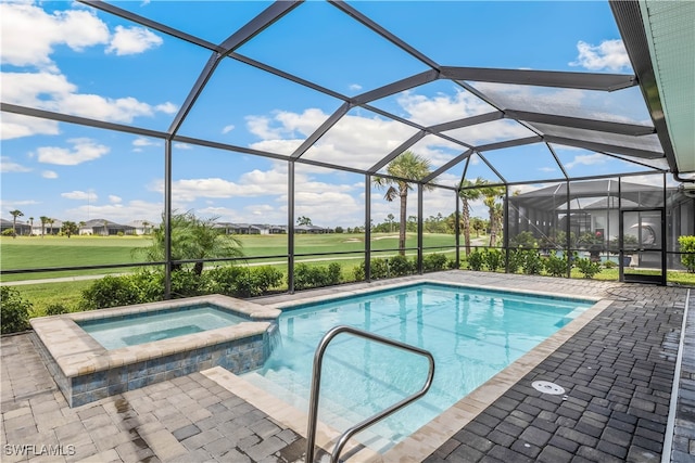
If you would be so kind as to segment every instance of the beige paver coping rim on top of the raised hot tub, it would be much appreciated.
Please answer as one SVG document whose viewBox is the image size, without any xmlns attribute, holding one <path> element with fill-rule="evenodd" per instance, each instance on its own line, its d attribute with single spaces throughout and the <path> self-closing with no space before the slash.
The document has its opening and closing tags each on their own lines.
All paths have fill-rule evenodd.
<svg viewBox="0 0 695 463">
<path fill-rule="evenodd" d="M 248 317 L 250 321 L 111 350 L 104 348 L 77 324 L 80 321 L 136 314 L 160 309 L 176 309 L 202 303 L 214 304 L 237 314 Z M 40 317 L 31 319 L 30 324 L 36 335 L 42 342 L 43 339 L 46 340 L 43 345 L 62 373 L 66 377 L 75 377 L 160 358 L 176 353 L 181 349 L 200 349 L 223 342 L 262 335 L 279 314 L 280 311 L 276 309 L 248 300 L 212 295 Z"/>
</svg>

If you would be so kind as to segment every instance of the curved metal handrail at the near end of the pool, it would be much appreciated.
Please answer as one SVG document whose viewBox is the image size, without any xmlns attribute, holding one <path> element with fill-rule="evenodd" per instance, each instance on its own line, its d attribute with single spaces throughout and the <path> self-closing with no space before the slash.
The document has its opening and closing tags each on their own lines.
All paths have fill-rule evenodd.
<svg viewBox="0 0 695 463">
<path fill-rule="evenodd" d="M 314 462 L 314 442 L 316 440 L 316 422 L 318 420 L 318 397 L 320 391 L 321 363 L 324 361 L 324 353 L 328 348 L 328 344 L 341 333 L 364 337 L 369 340 L 375 340 L 377 343 L 386 344 L 388 346 L 392 346 L 399 349 L 410 351 L 418 356 L 426 357 L 430 365 L 429 365 L 429 372 L 427 375 L 427 381 L 425 382 L 425 384 L 422 385 L 422 388 L 419 391 L 413 394 L 412 396 L 406 397 L 405 399 L 392 404 L 388 409 L 369 416 L 368 419 L 357 423 L 353 427 L 345 430 L 336 442 L 336 447 L 333 447 L 333 453 L 330 459 L 331 463 L 338 462 L 338 456 L 340 455 L 345 443 L 348 443 L 348 440 L 352 438 L 352 436 L 354 436 L 361 430 L 371 426 L 372 424 L 389 416 L 393 412 L 402 409 L 403 407 L 422 397 L 429 390 L 430 386 L 432 385 L 432 380 L 434 377 L 434 358 L 427 350 L 424 350 L 418 347 L 410 346 L 408 344 L 404 344 L 397 340 L 393 340 L 388 337 L 378 336 L 376 334 L 372 334 L 363 330 L 357 330 L 352 326 L 340 325 L 330 330 L 328 333 L 324 335 L 320 343 L 318 343 L 318 347 L 316 348 L 316 353 L 314 355 L 312 394 L 311 394 L 309 409 L 308 409 L 308 426 L 306 430 L 306 463 Z"/>
</svg>

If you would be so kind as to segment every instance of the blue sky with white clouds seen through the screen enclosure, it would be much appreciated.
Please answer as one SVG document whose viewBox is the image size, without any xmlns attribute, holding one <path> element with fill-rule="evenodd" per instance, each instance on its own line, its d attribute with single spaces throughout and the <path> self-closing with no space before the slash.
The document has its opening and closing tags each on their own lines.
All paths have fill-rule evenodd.
<svg viewBox="0 0 695 463">
<path fill-rule="evenodd" d="M 119 8 L 218 43 L 267 2 L 119 2 Z M 357 1 L 375 20 L 440 65 L 541 70 L 632 73 L 607 1 Z M 2 102 L 165 131 L 210 52 L 164 34 L 72 2 L 2 2 Z M 30 33 L 27 33 L 30 31 Z M 330 4 L 308 1 L 238 52 L 346 97 L 428 70 L 393 44 Z M 471 82 L 501 100 L 533 111 L 598 115 L 649 124 L 636 88 L 593 94 Z M 184 121 L 179 134 L 289 156 L 342 101 L 292 81 L 225 60 Z M 371 103 L 400 117 L 434 125 L 491 111 L 448 80 Z M 622 112 L 605 115 L 618 104 Z M 24 220 L 108 219 L 157 221 L 164 207 L 164 143 L 2 113 L 1 216 Z M 516 138 L 527 129 L 510 120 L 453 130 L 477 144 Z M 354 168 L 370 167 L 415 129 L 366 108 L 348 113 L 304 157 Z M 556 146 L 572 176 L 641 170 L 578 149 Z M 426 137 L 414 147 L 433 167 L 462 147 Z M 490 153 L 509 181 L 560 177 L 547 150 L 535 145 Z M 523 160 L 519 160 L 523 159 Z M 473 159 L 476 160 L 476 159 Z M 295 216 L 315 224 L 364 222 L 365 178 L 298 164 Z M 288 163 L 243 153 L 174 144 L 174 207 L 204 217 L 287 223 Z M 441 176 L 454 185 L 463 165 Z M 497 180 L 484 165 L 468 177 Z M 539 184 L 536 184 L 538 187 Z M 428 192 L 425 216 L 454 209 L 450 191 Z M 409 203 L 415 214 L 415 201 Z M 397 205 L 372 193 L 372 219 L 397 217 Z M 473 215 L 484 217 L 481 205 Z"/>
</svg>

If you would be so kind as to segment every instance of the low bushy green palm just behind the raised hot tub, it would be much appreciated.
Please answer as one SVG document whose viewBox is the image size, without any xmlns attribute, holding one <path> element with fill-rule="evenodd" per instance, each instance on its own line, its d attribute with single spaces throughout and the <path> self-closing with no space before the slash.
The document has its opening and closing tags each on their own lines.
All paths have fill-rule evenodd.
<svg viewBox="0 0 695 463">
<path fill-rule="evenodd" d="M 231 235 L 220 233 L 219 229 L 215 228 L 216 220 L 216 217 L 200 219 L 192 211 L 172 214 L 172 259 L 243 257 L 241 243 Z M 150 261 L 164 260 L 165 228 L 154 228 L 151 237 L 152 243 L 149 247 L 136 248 L 135 253 L 143 253 Z M 175 263 L 172 266 L 172 271 L 180 268 L 180 263 Z M 193 272 L 200 275 L 203 272 L 203 262 L 195 262 Z"/>
</svg>

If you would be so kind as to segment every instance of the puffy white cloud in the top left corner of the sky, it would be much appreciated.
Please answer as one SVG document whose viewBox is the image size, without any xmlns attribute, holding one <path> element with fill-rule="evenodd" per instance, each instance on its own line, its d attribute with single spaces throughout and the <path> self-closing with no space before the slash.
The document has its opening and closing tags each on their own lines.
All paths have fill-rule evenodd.
<svg viewBox="0 0 695 463">
<path fill-rule="evenodd" d="M 81 51 L 109 40 L 108 26 L 88 10 L 49 14 L 28 2 L 3 2 L 0 13 L 2 64 L 55 72 L 50 59 L 55 46 L 65 44 Z"/>
</svg>

